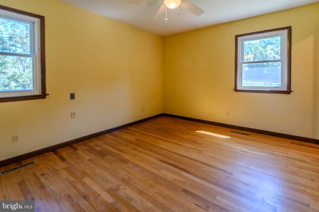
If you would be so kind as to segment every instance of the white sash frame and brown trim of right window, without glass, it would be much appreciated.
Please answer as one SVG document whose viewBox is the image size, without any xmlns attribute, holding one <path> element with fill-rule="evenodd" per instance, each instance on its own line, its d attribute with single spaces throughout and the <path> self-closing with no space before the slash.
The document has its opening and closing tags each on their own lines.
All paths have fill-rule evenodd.
<svg viewBox="0 0 319 212">
<path fill-rule="evenodd" d="M 281 37 L 281 60 L 244 62 L 244 42 L 270 37 Z M 236 35 L 236 64 L 235 64 L 235 91 L 254 93 L 285 93 L 290 94 L 290 57 L 291 57 L 291 27 L 282 27 L 260 32 Z M 281 62 L 281 87 L 242 86 L 243 64 L 259 62 Z"/>
</svg>

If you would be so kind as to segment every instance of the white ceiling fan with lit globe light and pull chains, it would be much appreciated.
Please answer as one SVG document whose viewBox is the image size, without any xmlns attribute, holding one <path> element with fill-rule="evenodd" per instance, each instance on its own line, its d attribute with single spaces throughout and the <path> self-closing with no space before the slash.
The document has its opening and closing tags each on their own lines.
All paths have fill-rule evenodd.
<svg viewBox="0 0 319 212">
<path fill-rule="evenodd" d="M 160 0 L 147 0 L 145 4 L 149 6 L 155 6 L 158 1 Z M 162 0 L 162 1 L 163 3 L 161 4 L 160 8 L 156 12 L 153 19 L 158 19 L 167 10 L 167 8 L 175 9 L 179 6 L 184 7 L 185 9 L 189 10 L 190 12 L 192 12 L 193 14 L 197 16 L 204 13 L 204 10 L 202 10 L 201 8 L 199 8 L 198 6 L 196 6 L 189 0 Z M 130 0 L 130 2 L 140 3 L 141 0 Z M 165 20 L 167 20 L 167 17 L 165 18 Z"/>
</svg>

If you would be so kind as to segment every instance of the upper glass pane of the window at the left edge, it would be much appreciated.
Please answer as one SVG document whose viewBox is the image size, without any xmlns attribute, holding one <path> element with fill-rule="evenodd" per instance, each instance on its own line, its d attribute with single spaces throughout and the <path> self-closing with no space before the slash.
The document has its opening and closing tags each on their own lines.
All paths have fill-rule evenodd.
<svg viewBox="0 0 319 212">
<path fill-rule="evenodd" d="M 30 24 L 0 17 L 0 51 L 30 54 Z"/>
</svg>

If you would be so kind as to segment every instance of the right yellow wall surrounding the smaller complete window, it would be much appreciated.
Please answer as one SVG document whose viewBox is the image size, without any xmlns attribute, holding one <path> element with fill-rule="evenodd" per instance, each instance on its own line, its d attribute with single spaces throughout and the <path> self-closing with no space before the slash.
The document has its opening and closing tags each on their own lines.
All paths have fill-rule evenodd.
<svg viewBox="0 0 319 212">
<path fill-rule="evenodd" d="M 235 35 L 290 25 L 294 92 L 234 92 Z M 319 139 L 319 3 L 168 36 L 163 42 L 165 113 Z"/>
</svg>

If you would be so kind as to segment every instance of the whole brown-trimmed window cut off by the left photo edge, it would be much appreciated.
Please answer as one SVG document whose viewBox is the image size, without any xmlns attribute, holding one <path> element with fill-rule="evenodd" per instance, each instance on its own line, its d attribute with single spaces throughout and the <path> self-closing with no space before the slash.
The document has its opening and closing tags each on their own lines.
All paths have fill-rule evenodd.
<svg viewBox="0 0 319 212">
<path fill-rule="evenodd" d="M 0 102 L 45 99 L 44 17 L 0 5 Z"/>
</svg>

